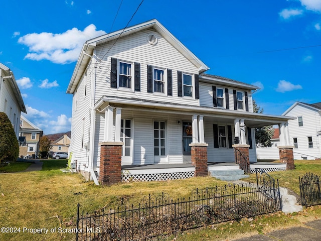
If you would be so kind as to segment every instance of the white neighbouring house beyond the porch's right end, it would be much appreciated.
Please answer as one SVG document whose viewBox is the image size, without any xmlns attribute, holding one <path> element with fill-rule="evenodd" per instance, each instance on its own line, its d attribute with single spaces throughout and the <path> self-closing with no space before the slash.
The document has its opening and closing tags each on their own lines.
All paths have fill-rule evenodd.
<svg viewBox="0 0 321 241">
<path fill-rule="evenodd" d="M 320 159 L 321 102 L 308 104 L 297 101 L 282 115 L 295 117 L 288 121 L 289 139 L 290 145 L 293 146 L 294 159 Z M 272 140 L 272 147 L 257 148 L 257 158 L 278 159 L 278 150 L 275 146 L 277 143 L 277 140 Z"/>
</svg>

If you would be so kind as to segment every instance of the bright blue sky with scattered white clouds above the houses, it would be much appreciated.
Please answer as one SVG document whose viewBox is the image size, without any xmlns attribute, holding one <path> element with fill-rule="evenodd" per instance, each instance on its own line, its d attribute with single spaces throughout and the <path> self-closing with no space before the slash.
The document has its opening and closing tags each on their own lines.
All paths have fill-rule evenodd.
<svg viewBox="0 0 321 241">
<path fill-rule="evenodd" d="M 86 40 L 124 28 L 141 0 L 2 3 L 0 62 L 26 117 L 45 134 L 71 127 L 66 89 Z M 118 13 L 118 14 L 117 14 Z M 320 102 L 321 0 L 144 0 L 129 26 L 157 19 L 220 75 L 254 84 L 266 114 Z"/>
</svg>

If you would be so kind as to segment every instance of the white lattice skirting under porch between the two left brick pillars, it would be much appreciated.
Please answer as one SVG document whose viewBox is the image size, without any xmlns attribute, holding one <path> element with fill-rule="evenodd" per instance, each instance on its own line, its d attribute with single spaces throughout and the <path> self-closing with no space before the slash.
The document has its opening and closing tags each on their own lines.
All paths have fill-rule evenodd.
<svg viewBox="0 0 321 241">
<path fill-rule="evenodd" d="M 166 181 L 175 179 L 188 179 L 194 177 L 194 172 L 152 173 L 152 174 L 122 174 L 123 182 Z"/>
</svg>

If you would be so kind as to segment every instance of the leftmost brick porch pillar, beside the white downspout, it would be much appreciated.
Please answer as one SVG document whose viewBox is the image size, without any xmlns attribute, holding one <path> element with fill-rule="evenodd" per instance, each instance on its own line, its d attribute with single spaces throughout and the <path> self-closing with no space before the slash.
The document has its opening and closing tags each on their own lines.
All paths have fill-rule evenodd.
<svg viewBox="0 0 321 241">
<path fill-rule="evenodd" d="M 103 142 L 100 145 L 99 183 L 110 185 L 121 182 L 122 142 Z"/>
</svg>

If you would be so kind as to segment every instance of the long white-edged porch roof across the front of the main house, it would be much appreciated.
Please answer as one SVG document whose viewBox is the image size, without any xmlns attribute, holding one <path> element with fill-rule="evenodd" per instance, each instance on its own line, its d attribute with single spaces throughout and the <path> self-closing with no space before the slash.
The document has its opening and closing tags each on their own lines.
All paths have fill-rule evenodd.
<svg viewBox="0 0 321 241">
<path fill-rule="evenodd" d="M 95 104 L 94 109 L 102 112 L 108 105 L 141 111 L 166 112 L 184 115 L 198 114 L 204 115 L 205 121 L 219 121 L 225 123 L 234 123 L 234 119 L 239 118 L 244 119 L 245 125 L 251 128 L 277 125 L 287 122 L 288 119 L 294 119 L 294 117 L 284 115 L 269 115 L 231 109 L 221 109 L 214 107 L 195 106 L 115 96 L 101 97 Z"/>
</svg>

